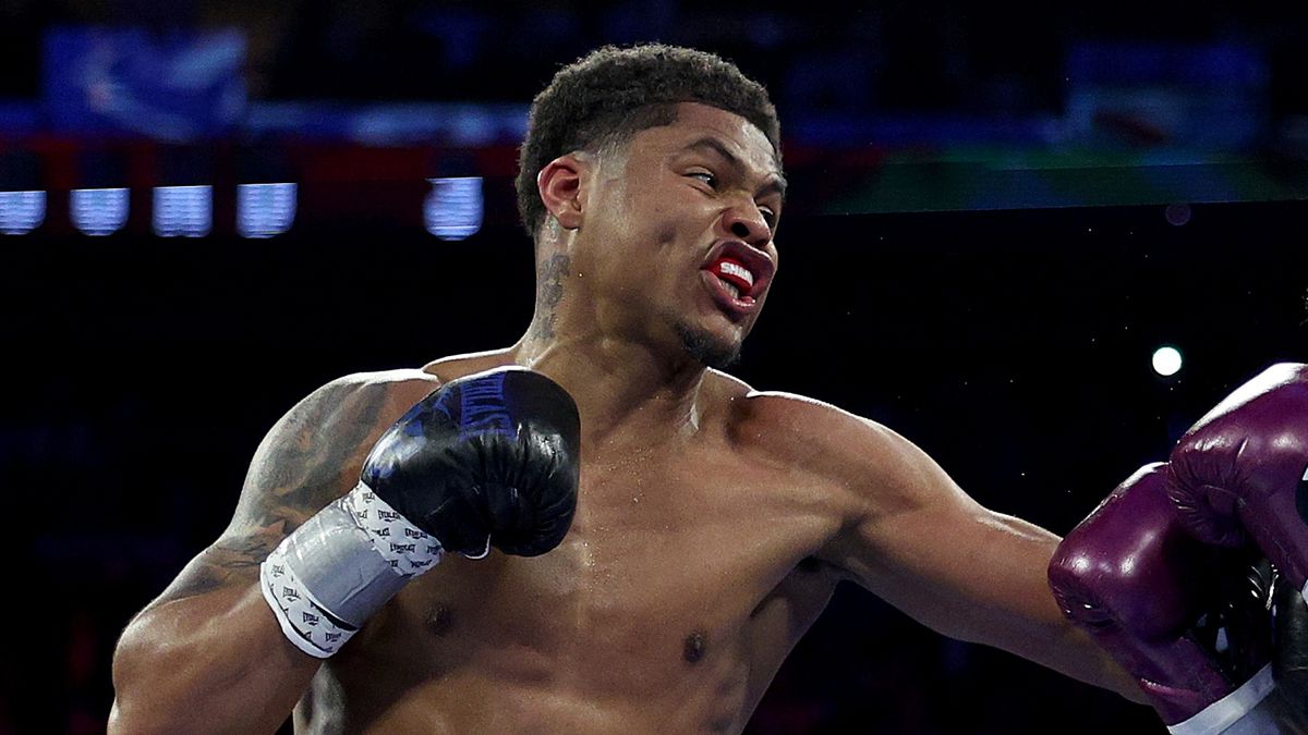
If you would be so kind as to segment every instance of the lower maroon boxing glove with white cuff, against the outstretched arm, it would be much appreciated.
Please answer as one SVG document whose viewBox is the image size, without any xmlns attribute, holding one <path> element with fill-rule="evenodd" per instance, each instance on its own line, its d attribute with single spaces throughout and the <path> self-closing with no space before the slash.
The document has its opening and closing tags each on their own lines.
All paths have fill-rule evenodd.
<svg viewBox="0 0 1308 735">
<path fill-rule="evenodd" d="M 1172 732 L 1282 731 L 1279 713 L 1253 714 L 1273 688 L 1270 582 L 1248 573 L 1248 553 L 1181 527 L 1165 472 L 1141 468 L 1063 539 L 1049 564 L 1054 598 Z"/>
</svg>

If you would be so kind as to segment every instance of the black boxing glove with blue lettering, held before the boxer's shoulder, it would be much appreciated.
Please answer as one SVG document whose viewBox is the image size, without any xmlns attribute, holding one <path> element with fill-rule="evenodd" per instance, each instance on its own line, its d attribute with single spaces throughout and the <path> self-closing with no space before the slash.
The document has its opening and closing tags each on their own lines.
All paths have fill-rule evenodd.
<svg viewBox="0 0 1308 735">
<path fill-rule="evenodd" d="M 450 382 L 377 441 L 361 483 L 446 551 L 538 556 L 577 506 L 577 404 L 539 373 L 501 369 Z"/>
</svg>

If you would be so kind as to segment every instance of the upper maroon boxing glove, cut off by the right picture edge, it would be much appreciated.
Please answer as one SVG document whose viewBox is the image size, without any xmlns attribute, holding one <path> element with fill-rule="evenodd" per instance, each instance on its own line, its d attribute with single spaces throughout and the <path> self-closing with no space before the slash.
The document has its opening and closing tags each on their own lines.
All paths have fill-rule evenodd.
<svg viewBox="0 0 1308 735">
<path fill-rule="evenodd" d="M 1273 365 L 1172 451 L 1168 494 L 1202 541 L 1252 539 L 1308 596 L 1308 365 Z"/>
</svg>

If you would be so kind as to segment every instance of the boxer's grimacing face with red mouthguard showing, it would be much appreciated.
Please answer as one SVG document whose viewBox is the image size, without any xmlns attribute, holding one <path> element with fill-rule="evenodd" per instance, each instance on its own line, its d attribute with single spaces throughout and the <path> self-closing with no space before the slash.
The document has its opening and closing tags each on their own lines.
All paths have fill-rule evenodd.
<svg viewBox="0 0 1308 735">
<path fill-rule="evenodd" d="M 777 263 L 785 180 L 763 131 L 683 103 L 672 124 L 602 154 L 591 183 L 579 235 L 596 296 L 705 365 L 732 362 Z"/>
</svg>

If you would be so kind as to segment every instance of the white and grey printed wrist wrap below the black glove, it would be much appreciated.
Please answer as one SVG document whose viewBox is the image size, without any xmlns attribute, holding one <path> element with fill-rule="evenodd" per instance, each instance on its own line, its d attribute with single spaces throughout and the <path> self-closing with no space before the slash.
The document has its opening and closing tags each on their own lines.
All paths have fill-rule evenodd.
<svg viewBox="0 0 1308 735">
<path fill-rule="evenodd" d="M 327 658 L 443 553 L 360 483 L 281 540 L 259 565 L 259 586 L 286 638 Z"/>
</svg>

